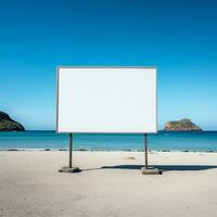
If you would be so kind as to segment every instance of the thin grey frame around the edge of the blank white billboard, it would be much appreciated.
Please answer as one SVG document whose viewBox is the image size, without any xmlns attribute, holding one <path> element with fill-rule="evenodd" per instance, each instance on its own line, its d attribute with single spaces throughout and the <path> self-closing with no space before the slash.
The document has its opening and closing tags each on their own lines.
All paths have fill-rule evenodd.
<svg viewBox="0 0 217 217">
<path fill-rule="evenodd" d="M 59 79 L 59 77 L 60 77 L 60 69 L 61 68 L 150 68 L 150 69 L 152 69 L 152 68 L 155 68 L 155 71 L 156 71 L 156 76 L 155 76 L 155 84 L 156 84 L 156 132 L 141 132 L 141 131 L 139 131 L 139 132 L 117 132 L 117 131 L 115 131 L 115 132 L 102 132 L 102 131 L 100 131 L 100 132 L 97 132 L 97 131 L 94 131 L 94 132 L 90 132 L 90 131 L 80 131 L 80 132 L 78 132 L 78 131 L 59 131 L 59 81 L 60 81 L 60 79 Z M 149 133 L 149 135 L 155 135 L 155 133 L 157 133 L 158 132 L 158 113 L 157 113 L 157 108 L 158 108 L 158 106 L 157 106 L 157 67 L 156 66 L 56 66 L 56 126 L 55 126 L 55 132 L 56 133 L 85 133 L 85 135 L 91 135 L 91 133 L 99 133 L 99 135 L 103 135 L 103 133 L 106 133 L 106 135 L 143 135 L 143 133 Z"/>
</svg>

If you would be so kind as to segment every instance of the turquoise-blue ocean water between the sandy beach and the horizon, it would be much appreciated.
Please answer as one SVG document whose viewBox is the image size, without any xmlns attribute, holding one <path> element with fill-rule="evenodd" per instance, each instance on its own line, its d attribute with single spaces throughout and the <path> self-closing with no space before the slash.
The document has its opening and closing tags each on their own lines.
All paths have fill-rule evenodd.
<svg viewBox="0 0 217 217">
<path fill-rule="evenodd" d="M 143 135 L 74 135 L 75 150 L 142 151 Z M 149 150 L 217 152 L 217 131 L 149 135 Z M 67 150 L 68 135 L 55 131 L 0 132 L 0 150 Z"/>
</svg>

